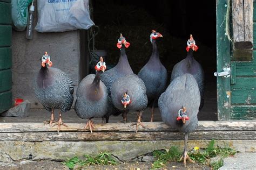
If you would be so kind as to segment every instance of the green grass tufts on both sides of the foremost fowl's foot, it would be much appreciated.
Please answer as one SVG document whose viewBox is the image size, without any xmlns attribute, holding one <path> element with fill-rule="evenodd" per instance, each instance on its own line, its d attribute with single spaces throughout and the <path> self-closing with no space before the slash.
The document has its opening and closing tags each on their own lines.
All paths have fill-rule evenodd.
<svg viewBox="0 0 256 170">
<path fill-rule="evenodd" d="M 215 141 L 211 140 L 206 148 L 188 151 L 190 158 L 200 164 L 208 165 L 213 169 L 223 166 L 223 159 L 237 153 L 230 147 L 215 146 Z M 152 169 L 164 167 L 168 162 L 179 161 L 182 152 L 176 146 L 172 146 L 167 151 L 154 151 L 153 155 L 157 159 L 152 164 Z M 211 158 L 220 155 L 220 159 L 211 163 Z"/>
</svg>

